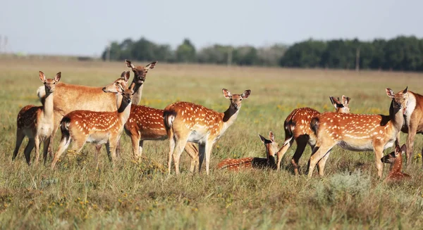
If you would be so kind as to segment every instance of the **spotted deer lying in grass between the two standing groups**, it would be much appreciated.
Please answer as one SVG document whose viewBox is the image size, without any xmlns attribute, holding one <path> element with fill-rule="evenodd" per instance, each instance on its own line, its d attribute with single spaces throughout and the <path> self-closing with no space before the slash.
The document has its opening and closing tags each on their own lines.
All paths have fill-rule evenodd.
<svg viewBox="0 0 423 230">
<path fill-rule="evenodd" d="M 275 136 L 269 132 L 269 139 L 259 134 L 260 139 L 266 148 L 266 158 L 240 158 L 225 159 L 217 164 L 218 169 L 240 170 L 241 168 L 270 168 L 276 170 L 275 153 L 278 150 L 278 143 L 275 142 Z"/>
</svg>

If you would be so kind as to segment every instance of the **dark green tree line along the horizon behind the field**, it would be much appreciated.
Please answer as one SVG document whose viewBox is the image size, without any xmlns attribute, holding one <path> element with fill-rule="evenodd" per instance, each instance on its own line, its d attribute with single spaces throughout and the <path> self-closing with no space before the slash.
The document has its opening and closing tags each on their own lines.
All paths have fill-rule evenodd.
<svg viewBox="0 0 423 230">
<path fill-rule="evenodd" d="M 214 44 L 196 49 L 189 39 L 172 49 L 144 37 L 114 41 L 102 53 L 104 60 L 159 60 L 168 63 L 261 65 L 290 68 L 336 68 L 423 71 L 423 39 L 308 39 L 292 46 L 226 46 Z"/>
</svg>

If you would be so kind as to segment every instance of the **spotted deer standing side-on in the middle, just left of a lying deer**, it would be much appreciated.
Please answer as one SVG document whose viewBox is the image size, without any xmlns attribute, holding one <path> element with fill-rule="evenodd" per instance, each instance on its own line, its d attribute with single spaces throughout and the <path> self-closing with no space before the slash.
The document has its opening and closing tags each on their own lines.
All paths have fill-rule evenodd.
<svg viewBox="0 0 423 230">
<path fill-rule="evenodd" d="M 206 172 L 209 174 L 210 154 L 212 147 L 220 136 L 235 122 L 243 99 L 250 96 L 251 91 L 243 94 L 231 94 L 222 89 L 223 96 L 231 103 L 224 113 L 219 113 L 204 106 L 189 102 L 176 102 L 164 108 L 164 124 L 169 139 L 168 174 L 171 173 L 172 157 L 175 171 L 179 174 L 179 158 L 187 141 L 199 144 L 201 170 L 202 158 L 206 155 Z"/>
</svg>

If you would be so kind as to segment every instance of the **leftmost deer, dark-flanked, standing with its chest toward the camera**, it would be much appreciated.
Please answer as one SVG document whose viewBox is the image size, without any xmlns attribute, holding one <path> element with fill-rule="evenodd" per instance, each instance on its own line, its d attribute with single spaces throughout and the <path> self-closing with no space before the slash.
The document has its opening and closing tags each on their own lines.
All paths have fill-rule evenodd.
<svg viewBox="0 0 423 230">
<path fill-rule="evenodd" d="M 61 72 L 56 74 L 54 79 L 47 79 L 43 72 L 39 71 L 39 79 L 44 83 L 45 98 L 42 106 L 25 106 L 22 108 L 16 119 L 16 147 L 13 151 L 12 160 L 18 155 L 19 147 L 25 136 L 29 141 L 25 147 L 25 158 L 28 165 L 31 165 L 30 153 L 35 146 L 35 164 L 39 160 L 39 148 L 41 142 L 44 142 L 44 164 L 47 160 L 47 147 L 49 146 L 50 136 L 53 133 L 54 115 L 53 98 L 57 83 L 60 81 Z"/>
</svg>

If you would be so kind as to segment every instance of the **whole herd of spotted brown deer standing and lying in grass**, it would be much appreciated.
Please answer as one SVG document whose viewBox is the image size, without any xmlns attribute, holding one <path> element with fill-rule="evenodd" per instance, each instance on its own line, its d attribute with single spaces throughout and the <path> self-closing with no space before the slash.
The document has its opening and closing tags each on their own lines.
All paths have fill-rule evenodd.
<svg viewBox="0 0 423 230">
<path fill-rule="evenodd" d="M 235 122 L 243 99 L 248 98 L 251 91 L 231 94 L 223 89 L 223 96 L 230 100 L 229 108 L 224 113 L 182 101 L 172 103 L 164 110 L 139 106 L 147 72 L 157 65 L 157 61 L 145 67 L 135 66 L 130 60 L 125 60 L 125 64 L 134 73 L 133 81 L 128 84 L 130 71 L 124 71 L 121 77 L 103 88 L 65 84 L 59 82 L 61 72 L 54 79 L 47 79 L 40 71 L 39 79 L 44 87 L 39 87 L 37 95 L 42 106 L 25 106 L 18 113 L 16 148 L 12 159 L 15 160 L 27 136 L 29 141 L 24 154 L 28 165 L 31 164 L 30 152 L 34 147 L 35 164 L 39 161 L 42 142 L 44 164 L 49 154 L 53 158 L 52 169 L 72 141 L 75 151 L 80 151 L 86 142 L 96 143 L 97 165 L 99 151 L 102 144 L 106 144 L 109 160 L 114 162 L 120 152 L 121 134 L 125 130 L 132 141 L 133 157 L 137 160 L 140 160 L 145 140 L 168 139 L 169 174 L 172 160 L 176 174 L 179 174 L 179 160 L 184 149 L 191 158 L 190 172 L 200 172 L 205 155 L 206 172 L 209 174 L 214 142 Z M 259 135 L 266 148 L 266 158 L 226 159 L 219 162 L 217 168 L 239 170 L 243 167 L 261 167 L 279 170 L 283 155 L 295 141 L 297 149 L 291 160 L 295 174 L 299 173 L 298 161 L 308 143 L 312 148 L 308 161 L 309 177 L 312 177 L 316 165 L 319 175 L 324 175 L 326 160 L 331 148 L 336 145 L 350 151 L 373 150 L 379 177 L 382 177 L 383 162 L 391 164 L 387 179 L 410 177 L 401 172 L 402 154 L 406 153 L 407 165 L 410 165 L 415 135 L 423 132 L 423 96 L 407 88 L 396 94 L 387 88 L 386 94 L 392 98 L 389 115 L 350 113 L 350 98 L 346 96 L 341 99 L 330 97 L 336 112 L 319 113 L 312 108 L 297 108 L 284 122 L 285 141 L 281 148 L 278 149 L 272 132 L 269 139 Z M 59 127 L 61 141 L 53 155 L 51 143 Z M 407 133 L 408 137 L 406 144 L 400 147 L 401 131 Z M 198 143 L 198 148 L 194 143 Z M 395 151 L 382 157 L 383 151 L 394 143 Z"/>
</svg>

